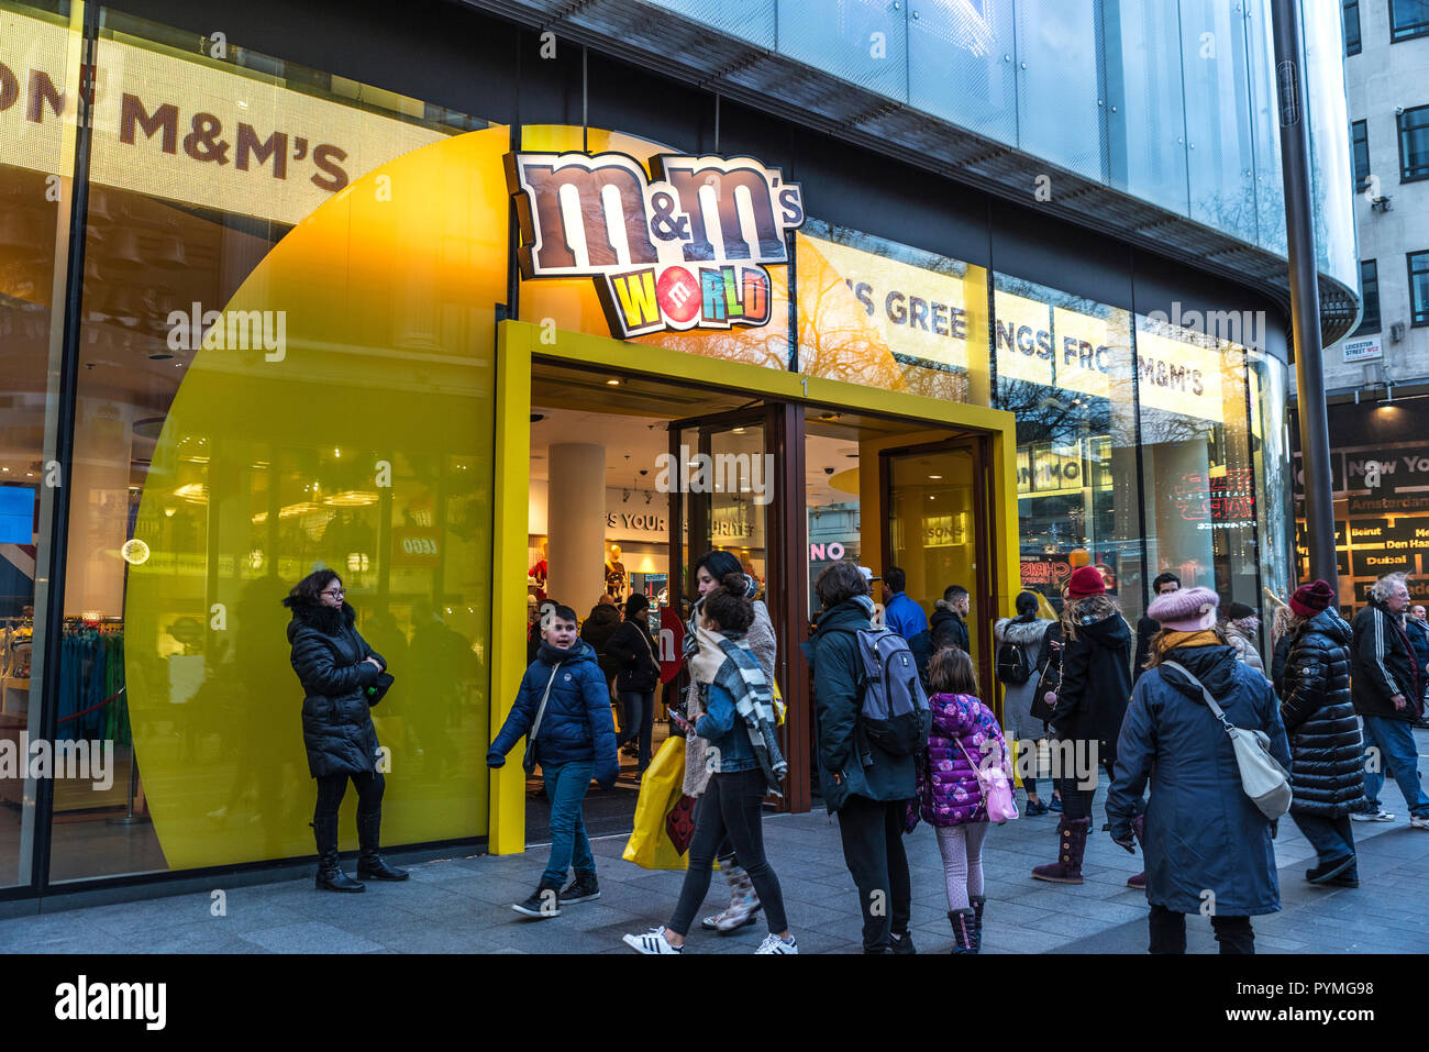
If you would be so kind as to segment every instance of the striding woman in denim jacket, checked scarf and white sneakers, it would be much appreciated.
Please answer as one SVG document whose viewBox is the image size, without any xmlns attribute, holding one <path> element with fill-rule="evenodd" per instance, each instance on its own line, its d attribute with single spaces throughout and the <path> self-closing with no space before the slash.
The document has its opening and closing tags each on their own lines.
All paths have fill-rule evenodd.
<svg viewBox="0 0 1429 1052">
<path fill-rule="evenodd" d="M 704 743 L 706 786 L 700 798 L 690 865 L 679 903 L 667 925 L 624 943 L 640 953 L 680 953 L 704 900 L 719 845 L 730 840 L 750 883 L 759 889 L 769 936 L 757 953 L 797 953 L 789 933 L 779 878 L 765 859 L 763 799 L 777 793 L 789 765 L 775 732 L 773 690 L 745 642 L 755 610 L 745 596 L 747 577 L 730 573 L 697 603 L 697 649 L 689 658 L 690 679 L 699 685 L 704 708 L 694 722 L 687 749 Z"/>
</svg>

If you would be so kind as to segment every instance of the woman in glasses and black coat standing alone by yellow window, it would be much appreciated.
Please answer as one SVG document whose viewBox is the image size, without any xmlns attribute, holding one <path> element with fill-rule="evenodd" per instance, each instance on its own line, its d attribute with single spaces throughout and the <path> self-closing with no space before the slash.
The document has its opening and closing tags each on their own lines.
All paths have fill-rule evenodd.
<svg viewBox="0 0 1429 1052">
<path fill-rule="evenodd" d="M 317 840 L 317 888 L 360 892 L 337 859 L 337 808 L 347 779 L 357 786 L 357 876 L 367 880 L 406 880 L 407 873 L 377 853 L 382 793 L 377 770 L 377 729 L 370 698 L 392 685 L 387 663 L 357 635 L 357 615 L 343 602 L 342 579 L 317 570 L 300 580 L 283 605 L 293 612 L 287 642 L 293 670 L 303 685 L 303 746 L 307 770 L 317 779 L 313 836 Z"/>
</svg>

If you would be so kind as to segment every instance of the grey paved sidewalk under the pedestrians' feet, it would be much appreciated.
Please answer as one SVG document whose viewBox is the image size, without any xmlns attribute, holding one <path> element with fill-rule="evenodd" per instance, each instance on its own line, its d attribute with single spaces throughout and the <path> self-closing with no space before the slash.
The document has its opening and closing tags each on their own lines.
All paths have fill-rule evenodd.
<svg viewBox="0 0 1429 1052">
<path fill-rule="evenodd" d="M 1426 735 L 1418 732 L 1420 753 Z M 986 953 L 1145 953 L 1146 898 L 1126 886 L 1142 868 L 1103 832 L 1105 779 L 1093 809 L 1082 885 L 1033 880 L 1032 866 L 1056 853 L 1056 815 L 990 830 L 983 852 Z M 1019 793 L 1020 796 L 1020 793 Z M 1283 909 L 1255 918 L 1259 952 L 1423 953 L 1429 951 L 1429 832 L 1410 829 L 1399 789 L 1380 795 L 1393 823 L 1355 823 L 1360 886 L 1308 885 L 1315 852 L 1289 820 L 1276 839 Z M 644 870 L 620 859 L 624 835 L 593 842 L 602 896 L 534 920 L 512 910 L 536 886 L 543 845 L 524 855 L 470 855 L 412 865 L 404 883 L 369 883 L 362 895 L 313 889 L 312 876 L 0 920 L 0 952 L 30 953 L 629 953 L 620 936 L 663 923 L 683 872 Z M 779 873 L 803 953 L 856 953 L 859 899 L 843 863 L 836 823 L 822 810 L 765 818 L 765 843 Z M 952 948 L 942 860 L 926 825 L 906 840 L 913 879 L 915 945 Z M 400 863 L 400 856 L 392 856 Z M 349 873 L 356 868 L 347 862 Z M 214 892 L 221 890 L 221 896 Z M 706 910 L 727 902 L 719 873 Z M 50 909 L 53 899 L 46 900 Z M 217 906 L 223 906 L 220 912 Z M 703 915 L 703 912 L 702 912 Z M 689 951 L 749 953 L 762 923 L 730 936 L 692 932 Z M 1209 919 L 1187 918 L 1187 949 L 1215 952 Z"/>
</svg>

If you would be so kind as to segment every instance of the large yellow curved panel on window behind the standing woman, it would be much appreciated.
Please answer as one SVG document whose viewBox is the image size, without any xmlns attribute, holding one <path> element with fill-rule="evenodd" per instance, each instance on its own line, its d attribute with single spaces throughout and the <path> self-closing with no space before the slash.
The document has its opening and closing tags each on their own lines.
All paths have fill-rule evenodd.
<svg viewBox="0 0 1429 1052">
<path fill-rule="evenodd" d="M 279 600 L 317 563 L 343 575 L 396 676 L 374 710 L 384 842 L 486 832 L 507 149 L 503 127 L 446 139 L 324 203 L 253 270 L 179 387 L 134 527 L 149 557 L 129 570 L 124 646 L 171 869 L 313 852 Z M 242 349 L 250 326 L 269 343 Z"/>
</svg>

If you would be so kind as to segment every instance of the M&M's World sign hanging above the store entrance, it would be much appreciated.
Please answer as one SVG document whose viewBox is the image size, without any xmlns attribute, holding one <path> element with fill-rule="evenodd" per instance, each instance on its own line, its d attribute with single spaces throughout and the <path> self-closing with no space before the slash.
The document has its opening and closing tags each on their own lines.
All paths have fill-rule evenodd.
<svg viewBox="0 0 1429 1052">
<path fill-rule="evenodd" d="M 593 277 L 614 336 L 763 326 L 803 194 L 752 157 L 509 153 L 523 277 Z"/>
</svg>

